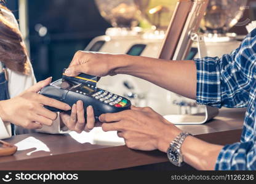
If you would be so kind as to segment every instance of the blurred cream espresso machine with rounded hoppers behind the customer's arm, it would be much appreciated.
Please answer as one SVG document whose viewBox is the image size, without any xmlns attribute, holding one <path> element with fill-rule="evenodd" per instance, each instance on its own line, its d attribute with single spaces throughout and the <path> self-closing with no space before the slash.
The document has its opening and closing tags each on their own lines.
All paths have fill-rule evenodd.
<svg viewBox="0 0 256 184">
<path fill-rule="evenodd" d="M 158 58 L 177 0 L 95 2 L 102 17 L 113 28 L 108 28 L 105 35 L 95 37 L 85 50 Z M 228 33 L 228 30 L 238 23 L 246 4 L 246 0 L 209 0 L 200 26 L 204 56 L 222 56 L 239 46 L 236 34 Z M 196 42 L 184 59 L 194 57 L 199 57 Z M 204 112 L 204 108 L 196 105 L 195 101 L 130 75 L 103 77 L 98 85 L 126 96 L 135 105 L 150 106 L 161 115 Z"/>
</svg>

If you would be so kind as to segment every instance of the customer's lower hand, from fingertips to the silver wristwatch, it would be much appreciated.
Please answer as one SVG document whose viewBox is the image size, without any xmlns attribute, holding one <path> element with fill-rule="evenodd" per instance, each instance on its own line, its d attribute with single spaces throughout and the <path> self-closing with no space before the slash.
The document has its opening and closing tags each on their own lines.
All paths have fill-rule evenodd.
<svg viewBox="0 0 256 184">
<path fill-rule="evenodd" d="M 99 120 L 105 122 L 103 131 L 118 131 L 127 147 L 136 150 L 166 152 L 170 142 L 182 132 L 150 107 L 132 106 L 131 110 L 100 115 Z"/>
</svg>

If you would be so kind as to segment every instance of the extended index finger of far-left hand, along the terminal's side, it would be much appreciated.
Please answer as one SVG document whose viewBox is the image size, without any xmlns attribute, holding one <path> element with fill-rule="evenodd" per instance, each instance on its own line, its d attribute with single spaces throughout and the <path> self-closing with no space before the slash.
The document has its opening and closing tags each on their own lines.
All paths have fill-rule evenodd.
<svg viewBox="0 0 256 184">
<path fill-rule="evenodd" d="M 60 102 L 60 101 L 57 101 L 56 99 L 48 98 L 41 94 L 38 94 L 38 97 L 39 97 L 38 98 L 39 102 L 41 102 L 41 104 L 48 105 L 50 107 L 55 107 L 60 110 L 70 110 L 71 109 L 70 105 Z"/>
</svg>

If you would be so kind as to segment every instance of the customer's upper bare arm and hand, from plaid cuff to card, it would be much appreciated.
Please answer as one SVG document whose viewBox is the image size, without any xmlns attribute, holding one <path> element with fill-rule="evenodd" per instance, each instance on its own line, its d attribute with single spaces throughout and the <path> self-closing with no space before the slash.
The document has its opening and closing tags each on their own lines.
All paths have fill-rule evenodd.
<svg viewBox="0 0 256 184">
<path fill-rule="evenodd" d="M 196 64 L 193 61 L 78 51 L 65 74 L 74 77 L 80 73 L 98 77 L 132 75 L 187 98 L 196 99 Z"/>
</svg>

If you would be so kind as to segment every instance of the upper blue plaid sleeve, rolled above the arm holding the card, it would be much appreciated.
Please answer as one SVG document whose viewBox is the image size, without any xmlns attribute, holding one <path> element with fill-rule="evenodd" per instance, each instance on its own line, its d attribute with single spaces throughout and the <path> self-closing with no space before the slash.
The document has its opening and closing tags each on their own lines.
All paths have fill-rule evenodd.
<svg viewBox="0 0 256 184">
<path fill-rule="evenodd" d="M 197 102 L 214 107 L 246 107 L 255 78 L 256 29 L 241 46 L 222 58 L 194 59 Z"/>
</svg>

